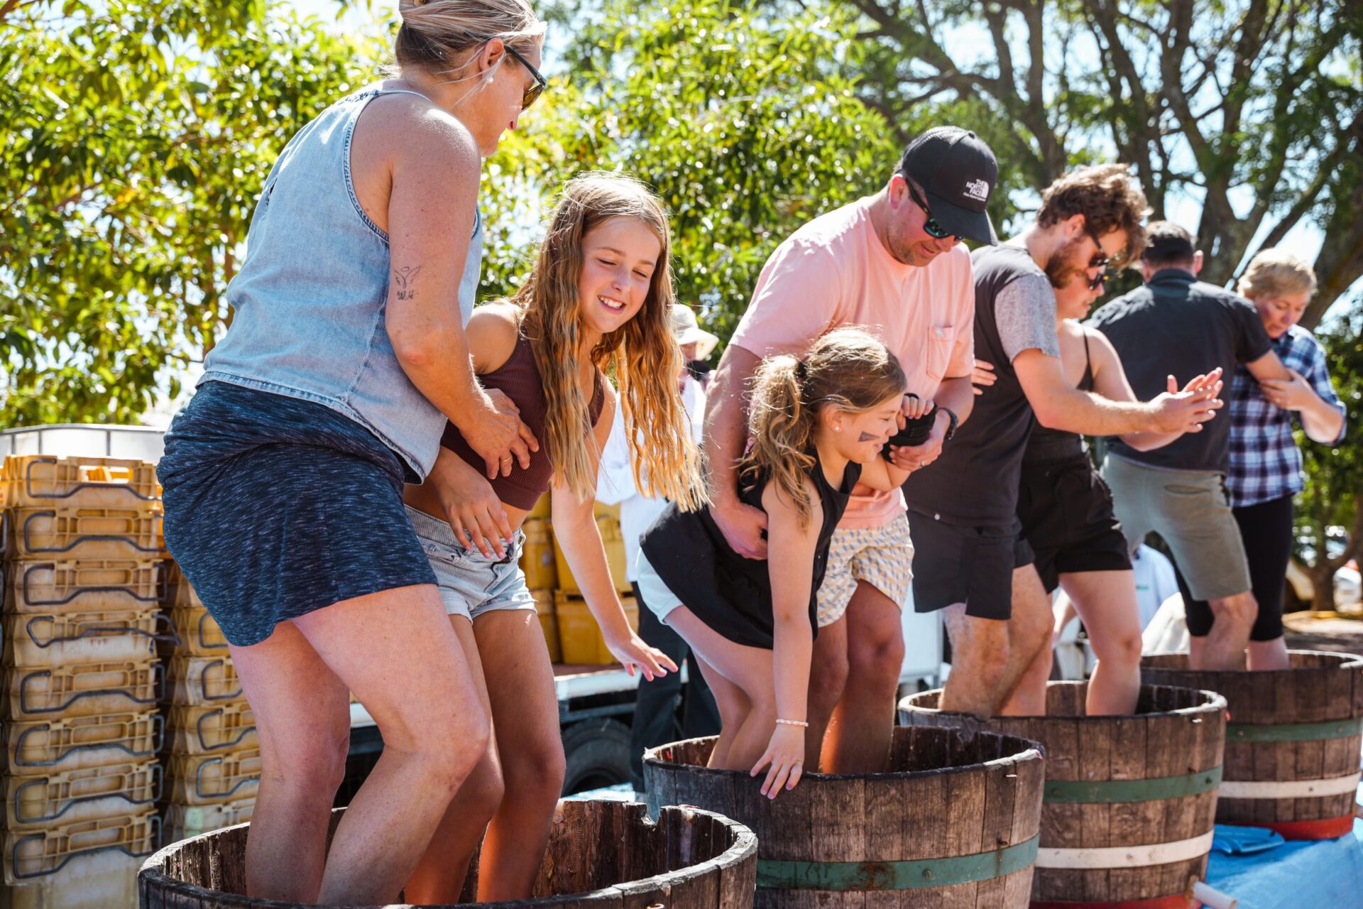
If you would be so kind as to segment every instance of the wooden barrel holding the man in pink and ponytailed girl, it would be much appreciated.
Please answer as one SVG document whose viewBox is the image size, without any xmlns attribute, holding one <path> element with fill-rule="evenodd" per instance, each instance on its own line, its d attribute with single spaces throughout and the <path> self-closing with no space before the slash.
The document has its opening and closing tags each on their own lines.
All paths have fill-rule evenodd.
<svg viewBox="0 0 1363 909">
<path fill-rule="evenodd" d="M 705 766 L 714 739 L 643 756 L 649 811 L 695 804 L 758 835 L 756 909 L 1028 905 L 1041 812 L 1035 741 L 895 729 L 891 773 L 808 774 L 774 800 Z"/>
</svg>

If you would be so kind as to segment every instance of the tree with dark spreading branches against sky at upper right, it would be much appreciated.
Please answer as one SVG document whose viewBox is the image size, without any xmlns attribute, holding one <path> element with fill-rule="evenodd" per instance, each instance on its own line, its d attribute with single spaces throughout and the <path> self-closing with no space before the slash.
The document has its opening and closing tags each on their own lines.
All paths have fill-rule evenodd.
<svg viewBox="0 0 1363 909">
<path fill-rule="evenodd" d="M 1307 326 L 1363 275 L 1356 0 L 831 1 L 861 15 L 861 94 L 891 123 L 965 105 L 1035 189 L 1127 161 L 1159 217 L 1171 194 L 1202 200 L 1216 283 L 1314 221 L 1325 245 Z"/>
</svg>

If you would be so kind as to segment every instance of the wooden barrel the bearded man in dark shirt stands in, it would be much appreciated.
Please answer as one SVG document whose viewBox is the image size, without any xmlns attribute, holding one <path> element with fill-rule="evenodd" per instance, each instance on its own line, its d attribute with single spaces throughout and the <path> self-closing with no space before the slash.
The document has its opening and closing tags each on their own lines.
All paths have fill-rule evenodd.
<svg viewBox="0 0 1363 909">
<path fill-rule="evenodd" d="M 1184 894 L 1212 848 L 1225 699 L 1142 685 L 1134 715 L 1088 717 L 1086 692 L 1084 681 L 1052 681 L 1045 717 L 981 724 L 939 711 L 942 692 L 927 691 L 900 702 L 900 720 L 987 728 L 1045 748 L 1033 909 L 1190 909 Z"/>
</svg>

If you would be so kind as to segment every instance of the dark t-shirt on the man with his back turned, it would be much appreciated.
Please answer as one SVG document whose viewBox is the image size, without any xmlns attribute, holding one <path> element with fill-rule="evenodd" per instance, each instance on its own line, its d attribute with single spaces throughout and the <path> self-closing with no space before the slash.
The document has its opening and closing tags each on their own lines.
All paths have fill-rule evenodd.
<svg viewBox="0 0 1363 909">
<path fill-rule="evenodd" d="M 1141 401 L 1168 391 L 1165 376 L 1172 375 L 1183 387 L 1193 376 L 1217 367 L 1224 371 L 1229 391 L 1236 364 L 1258 360 L 1273 348 L 1253 303 L 1202 283 L 1182 268 L 1154 273 L 1144 288 L 1094 312 L 1090 324 L 1116 348 L 1131 390 Z M 1202 424 L 1202 432 L 1184 433 L 1153 451 L 1137 451 L 1114 439 L 1111 452 L 1165 470 L 1225 473 L 1231 414 L 1219 410 Z"/>
</svg>

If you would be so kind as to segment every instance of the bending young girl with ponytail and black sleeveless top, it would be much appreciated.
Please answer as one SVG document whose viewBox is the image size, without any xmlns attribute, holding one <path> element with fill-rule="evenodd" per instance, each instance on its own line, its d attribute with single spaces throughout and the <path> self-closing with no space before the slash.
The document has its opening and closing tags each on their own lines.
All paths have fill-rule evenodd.
<svg viewBox="0 0 1363 909">
<path fill-rule="evenodd" d="M 763 361 L 739 493 L 767 512 L 766 561 L 737 555 L 707 510 L 668 506 L 641 541 L 645 602 L 686 638 L 720 707 L 709 766 L 754 777 L 770 766 L 769 799 L 803 770 L 815 594 L 833 530 L 857 481 L 889 491 L 906 476 L 880 457 L 904 391 L 898 360 L 859 328 L 830 331 L 803 360 Z"/>
</svg>

